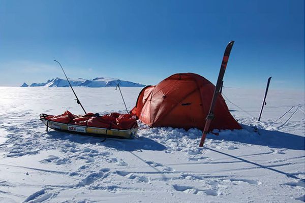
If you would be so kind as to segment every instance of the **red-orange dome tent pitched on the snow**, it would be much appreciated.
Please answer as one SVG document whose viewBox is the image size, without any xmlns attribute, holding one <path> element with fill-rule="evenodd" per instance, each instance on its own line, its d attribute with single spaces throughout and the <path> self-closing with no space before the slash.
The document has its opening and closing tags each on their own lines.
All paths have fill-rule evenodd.
<svg viewBox="0 0 305 203">
<path fill-rule="evenodd" d="M 194 73 L 174 74 L 140 92 L 131 113 L 150 127 L 199 128 L 203 130 L 215 85 Z M 216 101 L 209 130 L 241 129 L 224 98 Z"/>
</svg>

